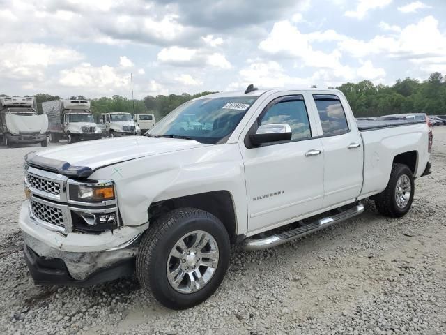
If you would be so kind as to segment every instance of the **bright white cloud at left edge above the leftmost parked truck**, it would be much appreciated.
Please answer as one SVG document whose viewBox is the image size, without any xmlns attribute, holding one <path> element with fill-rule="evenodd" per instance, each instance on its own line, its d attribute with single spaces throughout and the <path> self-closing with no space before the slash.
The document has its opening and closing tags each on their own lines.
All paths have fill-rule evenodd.
<svg viewBox="0 0 446 335">
<path fill-rule="evenodd" d="M 10 79 L 42 81 L 49 66 L 68 64 L 82 58 L 82 54 L 67 47 L 6 43 L 0 47 L 0 73 Z"/>
</svg>

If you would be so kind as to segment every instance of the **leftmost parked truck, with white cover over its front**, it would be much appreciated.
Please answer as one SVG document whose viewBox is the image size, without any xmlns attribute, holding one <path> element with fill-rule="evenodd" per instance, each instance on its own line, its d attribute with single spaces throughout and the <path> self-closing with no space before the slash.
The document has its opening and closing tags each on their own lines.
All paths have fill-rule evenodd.
<svg viewBox="0 0 446 335">
<path fill-rule="evenodd" d="M 47 146 L 48 119 L 38 114 L 36 99 L 31 97 L 0 98 L 0 143 L 40 143 Z"/>
</svg>

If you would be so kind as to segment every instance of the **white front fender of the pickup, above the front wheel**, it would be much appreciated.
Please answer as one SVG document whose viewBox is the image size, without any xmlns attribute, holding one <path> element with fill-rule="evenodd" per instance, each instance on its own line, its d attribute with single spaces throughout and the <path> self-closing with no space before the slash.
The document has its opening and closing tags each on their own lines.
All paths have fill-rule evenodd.
<svg viewBox="0 0 446 335">
<path fill-rule="evenodd" d="M 237 234 L 247 231 L 247 198 L 238 144 L 218 144 L 137 158 L 93 172 L 91 179 L 113 179 L 125 225 L 148 221 L 153 202 L 212 191 L 229 191 Z"/>
</svg>

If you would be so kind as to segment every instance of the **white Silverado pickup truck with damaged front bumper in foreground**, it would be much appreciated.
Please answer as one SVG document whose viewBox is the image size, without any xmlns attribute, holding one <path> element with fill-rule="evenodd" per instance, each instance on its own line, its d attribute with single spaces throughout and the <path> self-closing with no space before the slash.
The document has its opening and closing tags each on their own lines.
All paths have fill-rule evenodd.
<svg viewBox="0 0 446 335">
<path fill-rule="evenodd" d="M 357 124 L 336 90 L 202 96 L 146 137 L 28 154 L 25 259 L 36 284 L 136 271 L 162 304 L 187 308 L 218 288 L 231 244 L 277 246 L 362 213 L 364 198 L 406 214 L 431 144 L 426 121 Z"/>
</svg>

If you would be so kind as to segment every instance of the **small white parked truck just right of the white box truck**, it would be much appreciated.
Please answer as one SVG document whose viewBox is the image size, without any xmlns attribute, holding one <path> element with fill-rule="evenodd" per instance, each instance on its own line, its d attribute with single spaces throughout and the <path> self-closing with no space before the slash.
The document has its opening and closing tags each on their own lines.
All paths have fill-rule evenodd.
<svg viewBox="0 0 446 335">
<path fill-rule="evenodd" d="M 102 113 L 102 124 L 105 124 L 105 135 L 108 137 L 120 137 L 137 135 L 141 129 L 135 124 L 130 113 Z"/>
</svg>

